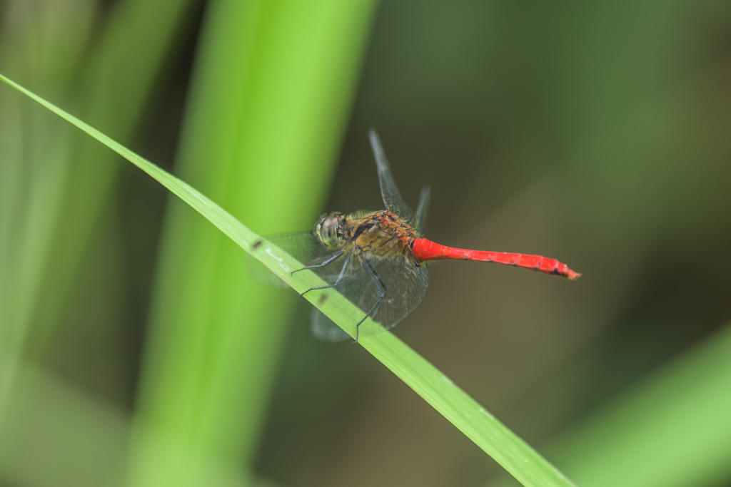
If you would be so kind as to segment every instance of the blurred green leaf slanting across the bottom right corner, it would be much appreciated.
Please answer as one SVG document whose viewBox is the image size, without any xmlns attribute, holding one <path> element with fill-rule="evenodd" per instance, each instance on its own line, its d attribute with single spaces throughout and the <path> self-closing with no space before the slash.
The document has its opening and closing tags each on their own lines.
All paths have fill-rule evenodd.
<svg viewBox="0 0 731 487">
<path fill-rule="evenodd" d="M 596 487 L 701 487 L 731 477 L 731 326 L 629 388 L 548 448 Z M 515 486 L 507 479 L 491 484 Z"/>
</svg>

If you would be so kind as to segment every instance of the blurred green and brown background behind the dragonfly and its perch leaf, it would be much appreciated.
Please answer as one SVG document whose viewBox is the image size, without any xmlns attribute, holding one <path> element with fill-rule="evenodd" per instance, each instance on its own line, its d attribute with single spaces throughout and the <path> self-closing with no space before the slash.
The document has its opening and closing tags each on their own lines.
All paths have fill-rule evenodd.
<svg viewBox="0 0 731 487">
<path fill-rule="evenodd" d="M 731 4 L 4 0 L 0 72 L 262 234 L 382 206 L 396 329 L 580 486 L 731 486 Z M 150 177 L 0 87 L 0 486 L 489 486 L 489 459 Z"/>
</svg>

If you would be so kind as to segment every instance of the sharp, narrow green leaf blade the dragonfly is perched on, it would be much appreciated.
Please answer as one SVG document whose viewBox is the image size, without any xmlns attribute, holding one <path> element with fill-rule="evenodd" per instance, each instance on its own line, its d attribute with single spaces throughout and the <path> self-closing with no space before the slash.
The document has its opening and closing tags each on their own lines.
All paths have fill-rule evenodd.
<svg viewBox="0 0 731 487">
<path fill-rule="evenodd" d="M 319 277 L 312 272 L 298 272 L 292 275 L 290 269 L 298 269 L 301 266 L 300 263 L 254 234 L 233 218 L 232 215 L 190 185 L 170 175 L 170 173 L 160 169 L 126 147 L 119 145 L 96 129 L 64 112 L 64 110 L 13 83 L 6 77 L 0 75 L 0 79 L 86 131 L 86 133 L 110 147 L 132 164 L 143 169 L 148 175 L 154 177 L 193 207 L 194 210 L 200 212 L 241 248 L 262 261 L 296 291 L 302 292 L 312 286 L 323 284 L 322 280 L 319 280 Z M 334 291 L 319 296 L 308 295 L 307 298 L 351 336 L 355 335 L 355 323 L 360 318 L 361 311 L 354 304 Z M 370 320 L 366 321 L 364 325 L 377 326 Z M 468 394 L 455 386 L 447 376 L 439 372 L 439 369 L 433 367 L 393 334 L 383 332 L 372 336 L 364 336 L 360 339 L 360 344 L 401 380 L 404 380 L 409 387 L 444 415 L 447 420 L 457 426 L 482 450 L 485 450 L 485 453 L 498 461 L 524 486 L 567 487 L 574 485 L 530 445 L 511 432 Z"/>
</svg>

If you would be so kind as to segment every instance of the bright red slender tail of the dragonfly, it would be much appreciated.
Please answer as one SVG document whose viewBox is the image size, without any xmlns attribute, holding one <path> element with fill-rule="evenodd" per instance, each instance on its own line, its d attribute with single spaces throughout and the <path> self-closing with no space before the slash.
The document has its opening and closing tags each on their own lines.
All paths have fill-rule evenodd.
<svg viewBox="0 0 731 487">
<path fill-rule="evenodd" d="M 527 256 L 522 253 L 487 252 L 483 250 L 466 250 L 463 248 L 452 248 L 439 245 L 427 239 L 415 239 L 412 246 L 414 256 L 422 261 L 441 261 L 447 258 L 462 261 L 496 262 L 511 266 L 525 267 L 534 271 L 545 272 L 551 275 L 561 275 L 576 280 L 581 274 L 569 269 L 569 266 L 562 264 L 555 258 L 543 256 Z"/>
</svg>

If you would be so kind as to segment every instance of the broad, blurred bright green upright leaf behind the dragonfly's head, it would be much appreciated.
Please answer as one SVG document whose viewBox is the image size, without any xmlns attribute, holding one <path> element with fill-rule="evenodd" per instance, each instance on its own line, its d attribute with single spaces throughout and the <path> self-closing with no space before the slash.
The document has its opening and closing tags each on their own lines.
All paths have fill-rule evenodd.
<svg viewBox="0 0 731 487">
<path fill-rule="evenodd" d="M 375 6 L 209 2 L 175 174 L 257 231 L 309 225 Z M 172 195 L 162 228 L 126 485 L 211 482 L 214 462 L 246 477 L 297 300 L 249 279 L 238 245 Z"/>
</svg>

